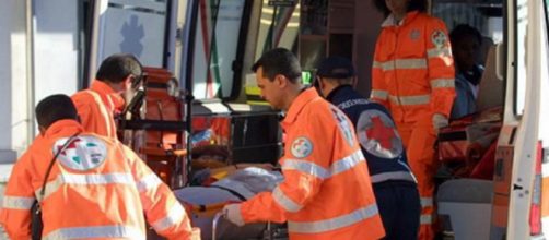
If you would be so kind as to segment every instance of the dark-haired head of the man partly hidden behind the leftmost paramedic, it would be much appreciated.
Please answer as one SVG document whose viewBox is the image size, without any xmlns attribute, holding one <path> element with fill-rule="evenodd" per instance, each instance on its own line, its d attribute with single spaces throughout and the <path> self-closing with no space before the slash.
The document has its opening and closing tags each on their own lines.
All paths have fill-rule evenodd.
<svg viewBox="0 0 549 240">
<path fill-rule="evenodd" d="M 130 53 L 116 53 L 105 59 L 95 79 L 107 83 L 114 91 L 124 93 L 135 88 L 143 77 L 143 69 L 139 60 Z"/>
</svg>

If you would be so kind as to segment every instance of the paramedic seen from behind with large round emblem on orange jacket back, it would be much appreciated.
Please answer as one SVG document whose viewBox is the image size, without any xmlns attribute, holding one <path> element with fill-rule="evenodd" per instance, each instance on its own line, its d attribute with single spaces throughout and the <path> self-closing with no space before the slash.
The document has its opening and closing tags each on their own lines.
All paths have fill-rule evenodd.
<svg viewBox="0 0 549 240">
<path fill-rule="evenodd" d="M 37 197 L 43 239 L 145 239 L 143 212 L 168 239 L 199 239 L 168 187 L 118 141 L 86 133 L 68 96 L 45 98 L 36 117 L 42 137 L 15 163 L 2 201 L 0 224 L 11 239 L 31 239 Z"/>
</svg>

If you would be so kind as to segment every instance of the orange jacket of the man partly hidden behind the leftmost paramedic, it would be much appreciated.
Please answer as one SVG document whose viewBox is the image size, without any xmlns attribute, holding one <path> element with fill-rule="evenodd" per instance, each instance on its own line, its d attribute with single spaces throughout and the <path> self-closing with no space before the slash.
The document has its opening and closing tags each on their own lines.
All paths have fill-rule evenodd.
<svg viewBox="0 0 549 240">
<path fill-rule="evenodd" d="M 89 89 L 80 91 L 71 98 L 86 132 L 117 137 L 114 112 L 120 111 L 125 101 L 110 86 L 95 80 Z"/>
</svg>

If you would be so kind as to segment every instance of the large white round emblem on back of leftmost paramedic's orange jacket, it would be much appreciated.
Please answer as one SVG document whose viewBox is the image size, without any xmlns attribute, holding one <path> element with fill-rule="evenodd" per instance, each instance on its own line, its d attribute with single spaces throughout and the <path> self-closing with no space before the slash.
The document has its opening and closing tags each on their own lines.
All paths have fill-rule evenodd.
<svg viewBox="0 0 549 240">
<path fill-rule="evenodd" d="M 57 140 L 54 144 L 54 154 L 61 151 L 69 137 Z M 85 171 L 101 166 L 105 161 L 107 147 L 105 143 L 94 136 L 80 135 L 59 154 L 59 163 L 69 169 Z"/>
</svg>

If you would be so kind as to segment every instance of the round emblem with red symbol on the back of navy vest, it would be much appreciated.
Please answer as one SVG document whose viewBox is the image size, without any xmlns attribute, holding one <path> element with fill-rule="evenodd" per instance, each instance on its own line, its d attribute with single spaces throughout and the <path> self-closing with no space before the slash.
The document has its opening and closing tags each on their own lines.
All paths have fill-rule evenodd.
<svg viewBox="0 0 549 240">
<path fill-rule="evenodd" d="M 362 148 L 376 157 L 395 158 L 402 154 L 402 140 L 395 123 L 383 111 L 363 111 L 357 122 L 357 135 Z"/>
</svg>

